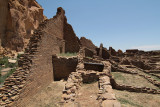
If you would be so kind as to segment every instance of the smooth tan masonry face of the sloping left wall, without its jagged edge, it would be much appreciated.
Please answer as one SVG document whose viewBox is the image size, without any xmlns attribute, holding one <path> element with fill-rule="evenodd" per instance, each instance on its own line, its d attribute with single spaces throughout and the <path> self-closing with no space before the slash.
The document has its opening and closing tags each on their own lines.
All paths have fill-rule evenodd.
<svg viewBox="0 0 160 107">
<path fill-rule="evenodd" d="M 47 42 L 46 42 L 47 41 Z M 32 59 L 30 73 L 25 88 L 20 93 L 15 106 L 24 107 L 30 98 L 54 80 L 52 55 L 59 53 L 56 37 L 42 32 L 37 52 Z"/>
</svg>

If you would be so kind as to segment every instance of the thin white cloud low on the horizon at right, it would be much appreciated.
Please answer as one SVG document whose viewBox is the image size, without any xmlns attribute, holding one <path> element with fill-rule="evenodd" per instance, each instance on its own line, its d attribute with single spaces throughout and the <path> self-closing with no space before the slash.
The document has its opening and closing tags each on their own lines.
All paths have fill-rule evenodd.
<svg viewBox="0 0 160 107">
<path fill-rule="evenodd" d="M 144 51 L 160 50 L 160 45 L 134 46 L 132 49 L 139 49 Z"/>
</svg>

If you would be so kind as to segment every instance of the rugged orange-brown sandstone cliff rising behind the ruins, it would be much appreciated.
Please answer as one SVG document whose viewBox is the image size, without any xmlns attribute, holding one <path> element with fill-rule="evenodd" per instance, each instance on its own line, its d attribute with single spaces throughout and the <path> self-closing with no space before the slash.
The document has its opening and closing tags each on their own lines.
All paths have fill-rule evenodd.
<svg viewBox="0 0 160 107">
<path fill-rule="evenodd" d="M 46 19 L 35 0 L 1 0 L 0 14 L 2 46 L 16 51 L 26 46 L 34 29 Z"/>
</svg>

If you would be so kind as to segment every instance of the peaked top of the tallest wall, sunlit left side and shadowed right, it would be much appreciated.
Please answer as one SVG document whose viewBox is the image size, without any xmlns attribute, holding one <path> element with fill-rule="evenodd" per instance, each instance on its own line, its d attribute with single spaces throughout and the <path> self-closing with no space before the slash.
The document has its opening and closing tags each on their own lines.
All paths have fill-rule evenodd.
<svg viewBox="0 0 160 107">
<path fill-rule="evenodd" d="M 65 41 L 65 52 L 79 52 L 79 38 L 74 33 L 70 24 L 67 23 L 65 11 L 60 7 L 57 9 L 57 14 L 52 19 L 49 19 L 45 31 L 57 38 Z"/>
</svg>

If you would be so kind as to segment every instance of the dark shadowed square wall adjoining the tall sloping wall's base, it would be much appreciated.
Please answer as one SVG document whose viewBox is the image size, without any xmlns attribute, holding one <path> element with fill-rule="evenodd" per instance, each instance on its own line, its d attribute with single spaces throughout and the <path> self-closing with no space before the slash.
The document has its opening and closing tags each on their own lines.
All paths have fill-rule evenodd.
<svg viewBox="0 0 160 107">
<path fill-rule="evenodd" d="M 76 72 L 77 57 L 65 58 L 52 56 L 54 80 L 67 79 L 71 72 Z"/>
</svg>

